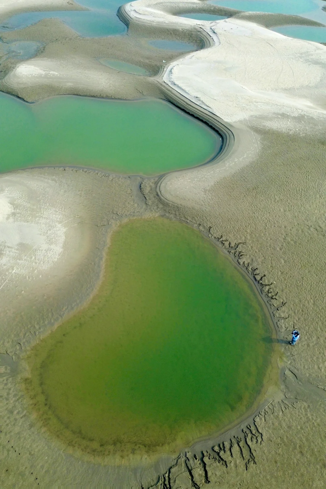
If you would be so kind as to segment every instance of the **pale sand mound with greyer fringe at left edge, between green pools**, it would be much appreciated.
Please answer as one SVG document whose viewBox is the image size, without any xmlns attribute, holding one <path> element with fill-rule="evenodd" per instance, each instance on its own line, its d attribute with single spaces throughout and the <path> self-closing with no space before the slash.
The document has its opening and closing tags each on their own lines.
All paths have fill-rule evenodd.
<svg viewBox="0 0 326 489">
<path fill-rule="evenodd" d="M 12 351 L 28 328 L 13 317 L 78 269 L 91 240 L 74 192 L 42 171 L 0 177 L 0 219 L 0 351 Z"/>
</svg>

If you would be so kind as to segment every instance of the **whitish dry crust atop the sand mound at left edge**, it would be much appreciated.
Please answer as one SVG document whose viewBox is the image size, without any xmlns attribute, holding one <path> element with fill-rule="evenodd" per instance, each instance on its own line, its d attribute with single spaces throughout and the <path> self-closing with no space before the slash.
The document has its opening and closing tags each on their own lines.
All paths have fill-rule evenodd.
<svg viewBox="0 0 326 489">
<path fill-rule="evenodd" d="M 60 259 L 67 223 L 54 192 L 50 180 L 0 177 L 0 289 L 13 276 L 39 276 Z"/>
</svg>

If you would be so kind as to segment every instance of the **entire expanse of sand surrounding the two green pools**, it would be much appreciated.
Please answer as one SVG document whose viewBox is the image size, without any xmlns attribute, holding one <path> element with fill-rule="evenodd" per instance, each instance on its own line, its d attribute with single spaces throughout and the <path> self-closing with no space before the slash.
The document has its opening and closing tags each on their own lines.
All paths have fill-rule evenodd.
<svg viewBox="0 0 326 489">
<path fill-rule="evenodd" d="M 23 4 L 28 10 L 30 4 Z M 195 10 L 233 17 L 204 22 L 174 15 Z M 6 267 L 1 282 L 6 281 L 1 289 L 1 351 L 10 354 L 2 358 L 9 374 L 3 431 L 8 472 L 2 485 L 26 487 L 26 481 L 34 484 L 38 477 L 45 486 L 55 481 L 61 486 L 90 487 L 322 488 L 326 476 L 326 46 L 264 27 L 296 23 L 294 16 L 238 13 L 200 1 L 140 0 L 125 5 L 120 15 L 130 23 L 135 36 L 130 44 L 137 47 L 140 58 L 140 33 L 160 32 L 166 38 L 179 36 L 206 46 L 186 55 L 166 53 L 169 63 L 162 62 L 156 76 L 142 81 L 139 92 L 164 97 L 209 122 L 224 135 L 225 145 L 211 164 L 159 180 L 69 169 L 25 170 L 0 178 L 1 237 L 5 238 L 1 263 Z M 50 27 L 48 38 L 55 25 L 62 27 L 61 22 L 42 22 Z M 19 35 L 38 40 L 37 29 L 27 27 Z M 1 89 L 25 95 L 27 100 L 54 93 L 116 96 L 116 81 L 107 85 L 115 75 L 94 61 L 96 45 L 101 50 L 107 41 L 83 40 L 73 34 L 67 38 L 66 27 L 62 29 L 65 34 L 59 41 L 45 41 L 40 56 L 8 67 Z M 80 51 L 68 66 L 65 50 L 70 43 Z M 153 74 L 154 66 L 160 65 L 155 56 L 148 54 Z M 121 59 L 129 61 L 123 50 Z M 119 93 L 132 98 L 134 87 L 132 77 Z M 72 214 L 68 230 L 65 222 Z M 176 460 L 167 457 L 155 466 L 143 461 L 137 469 L 99 466 L 75 459 L 39 432 L 21 398 L 13 360 L 33 344 L 35 334 L 52 328 L 62 311 L 71 311 L 90 296 L 114 221 L 148 214 L 199 226 L 260 282 L 270 299 L 282 350 L 280 383 L 249 418 L 227 433 L 186 448 Z M 48 216 L 53 221 L 51 231 Z M 47 270 L 46 278 L 42 270 Z M 78 279 L 85 276 L 86 281 Z M 31 297 L 36 313 L 29 316 L 26 305 Z M 33 329 L 33 321 L 43 329 Z M 295 348 L 286 344 L 293 326 L 302 334 Z"/>
</svg>

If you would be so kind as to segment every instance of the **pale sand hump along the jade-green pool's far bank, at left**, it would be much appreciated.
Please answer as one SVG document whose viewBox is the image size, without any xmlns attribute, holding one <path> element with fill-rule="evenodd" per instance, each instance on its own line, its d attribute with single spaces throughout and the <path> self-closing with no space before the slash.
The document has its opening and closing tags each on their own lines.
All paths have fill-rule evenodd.
<svg viewBox="0 0 326 489">
<path fill-rule="evenodd" d="M 78 48 L 79 39 L 76 44 Z M 29 102 L 52 95 L 76 93 L 121 99 L 160 95 L 159 89 L 149 81 L 148 77 L 117 71 L 102 65 L 95 56 L 87 56 L 82 52 L 78 55 L 65 55 L 62 52 L 65 50 L 64 47 L 58 46 L 60 53 L 57 53 L 55 58 L 47 58 L 45 53 L 42 57 L 14 67 L 0 81 L 0 89 Z M 81 48 L 80 51 L 82 50 Z M 106 54 L 108 49 L 102 51 Z M 116 56 L 118 58 L 119 54 Z M 155 69 L 157 64 L 155 56 L 149 59 L 148 64 L 150 67 L 154 65 Z"/>
</svg>

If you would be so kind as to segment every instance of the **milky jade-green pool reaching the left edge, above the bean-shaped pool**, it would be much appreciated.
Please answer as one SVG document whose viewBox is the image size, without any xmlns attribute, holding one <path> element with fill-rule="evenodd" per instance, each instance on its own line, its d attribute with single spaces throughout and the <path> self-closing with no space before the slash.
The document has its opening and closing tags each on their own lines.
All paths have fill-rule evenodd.
<svg viewBox="0 0 326 489">
<path fill-rule="evenodd" d="M 205 163 L 222 138 L 173 105 L 78 96 L 27 104 L 0 93 L 0 172 L 75 165 L 160 175 Z"/>
</svg>

